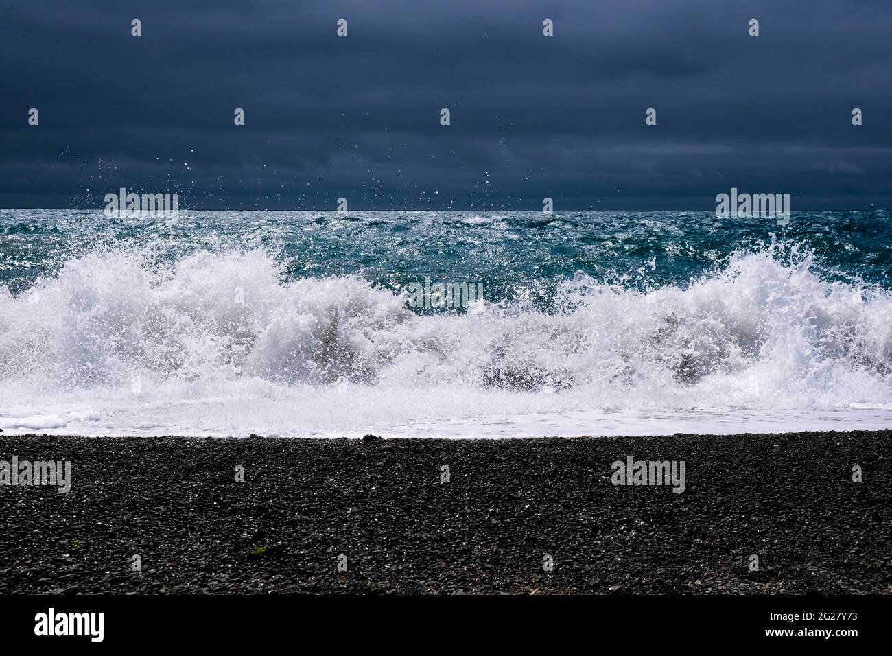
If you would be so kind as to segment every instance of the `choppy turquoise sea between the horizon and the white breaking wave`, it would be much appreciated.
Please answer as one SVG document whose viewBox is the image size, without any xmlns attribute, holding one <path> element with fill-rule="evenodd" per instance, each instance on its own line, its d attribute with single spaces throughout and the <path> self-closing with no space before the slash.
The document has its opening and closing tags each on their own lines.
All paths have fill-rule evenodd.
<svg viewBox="0 0 892 656">
<path fill-rule="evenodd" d="M 266 248 L 287 279 L 355 273 L 393 289 L 425 275 L 482 280 L 501 300 L 577 273 L 624 286 L 684 285 L 733 253 L 776 241 L 814 253 L 827 278 L 887 286 L 890 219 L 888 211 L 795 212 L 778 226 L 714 212 L 184 211 L 167 225 L 95 211 L 0 210 L 0 285 L 19 292 L 64 262 L 113 245 L 151 245 L 153 257 L 166 261 L 201 249 Z"/>
</svg>

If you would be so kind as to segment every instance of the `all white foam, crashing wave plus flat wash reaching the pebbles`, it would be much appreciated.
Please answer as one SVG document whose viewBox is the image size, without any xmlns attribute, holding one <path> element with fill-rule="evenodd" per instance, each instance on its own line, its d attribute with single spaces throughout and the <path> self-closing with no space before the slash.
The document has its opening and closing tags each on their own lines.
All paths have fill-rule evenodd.
<svg viewBox="0 0 892 656">
<path fill-rule="evenodd" d="M 91 253 L 19 295 L 0 289 L 0 427 L 521 436 L 888 426 L 892 299 L 823 279 L 807 258 L 740 255 L 690 286 L 649 291 L 580 275 L 558 299 L 558 313 L 521 299 L 421 316 L 406 295 L 356 276 L 287 282 L 258 250 L 171 266 L 148 251 Z"/>
</svg>

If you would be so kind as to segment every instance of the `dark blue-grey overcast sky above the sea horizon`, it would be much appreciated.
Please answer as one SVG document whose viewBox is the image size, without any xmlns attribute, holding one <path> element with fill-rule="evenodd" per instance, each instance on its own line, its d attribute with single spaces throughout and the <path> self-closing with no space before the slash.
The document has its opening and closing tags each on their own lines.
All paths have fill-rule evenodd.
<svg viewBox="0 0 892 656">
<path fill-rule="evenodd" d="M 4 207 L 892 205 L 886 0 L 0 5 Z"/>
</svg>

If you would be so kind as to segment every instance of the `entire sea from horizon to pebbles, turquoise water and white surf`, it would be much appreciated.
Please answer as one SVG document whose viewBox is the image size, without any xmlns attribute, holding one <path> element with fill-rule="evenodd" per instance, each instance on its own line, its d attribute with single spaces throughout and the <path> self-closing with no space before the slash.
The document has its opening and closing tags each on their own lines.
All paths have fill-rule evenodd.
<svg viewBox="0 0 892 656">
<path fill-rule="evenodd" d="M 0 428 L 889 428 L 890 219 L 0 210 Z M 425 278 L 483 299 L 412 307 Z"/>
</svg>

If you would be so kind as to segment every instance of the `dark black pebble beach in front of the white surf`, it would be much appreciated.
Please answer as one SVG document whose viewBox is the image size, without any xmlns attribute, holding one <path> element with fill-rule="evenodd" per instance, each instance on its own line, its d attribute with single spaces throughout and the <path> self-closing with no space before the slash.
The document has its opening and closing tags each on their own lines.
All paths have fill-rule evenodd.
<svg viewBox="0 0 892 656">
<path fill-rule="evenodd" d="M 71 463 L 68 494 L 0 486 L 0 594 L 889 594 L 890 446 L 0 433 L 0 461 Z M 684 491 L 613 485 L 630 456 Z"/>
</svg>

